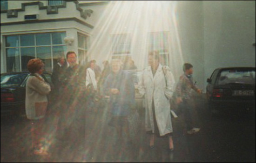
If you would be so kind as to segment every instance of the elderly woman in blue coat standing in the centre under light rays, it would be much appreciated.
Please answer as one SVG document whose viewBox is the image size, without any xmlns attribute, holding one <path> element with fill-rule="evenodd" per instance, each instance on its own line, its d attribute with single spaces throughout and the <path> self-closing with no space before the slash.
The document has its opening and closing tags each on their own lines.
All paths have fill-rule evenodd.
<svg viewBox="0 0 256 163">
<path fill-rule="evenodd" d="M 135 104 L 135 87 L 130 75 L 121 70 L 121 61 L 113 59 L 112 72 L 104 83 L 104 92 L 110 96 L 112 119 L 110 125 L 116 128 L 118 140 L 122 138 L 122 130 L 129 139 L 128 116 Z"/>
</svg>

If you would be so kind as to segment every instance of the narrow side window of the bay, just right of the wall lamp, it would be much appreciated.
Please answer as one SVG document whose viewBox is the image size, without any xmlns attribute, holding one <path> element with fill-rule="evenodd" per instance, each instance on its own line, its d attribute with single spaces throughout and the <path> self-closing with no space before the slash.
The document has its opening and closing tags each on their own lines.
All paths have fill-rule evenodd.
<svg viewBox="0 0 256 163">
<path fill-rule="evenodd" d="M 79 64 L 86 65 L 88 63 L 88 37 L 81 33 L 78 34 L 78 57 Z"/>
</svg>

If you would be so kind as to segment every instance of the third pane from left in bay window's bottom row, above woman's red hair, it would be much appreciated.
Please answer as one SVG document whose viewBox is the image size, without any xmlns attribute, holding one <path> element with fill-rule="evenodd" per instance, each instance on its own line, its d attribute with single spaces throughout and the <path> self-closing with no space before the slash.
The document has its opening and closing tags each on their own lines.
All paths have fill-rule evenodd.
<svg viewBox="0 0 256 163">
<path fill-rule="evenodd" d="M 45 71 L 52 71 L 51 47 L 37 47 L 37 58 L 41 59 L 45 64 Z"/>
</svg>

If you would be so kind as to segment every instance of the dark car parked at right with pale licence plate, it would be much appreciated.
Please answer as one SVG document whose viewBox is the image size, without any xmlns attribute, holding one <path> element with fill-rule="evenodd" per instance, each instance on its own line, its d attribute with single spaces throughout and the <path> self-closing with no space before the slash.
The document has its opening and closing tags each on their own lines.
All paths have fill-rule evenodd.
<svg viewBox="0 0 256 163">
<path fill-rule="evenodd" d="M 255 67 L 218 68 L 207 82 L 212 112 L 238 108 L 255 114 Z"/>
</svg>

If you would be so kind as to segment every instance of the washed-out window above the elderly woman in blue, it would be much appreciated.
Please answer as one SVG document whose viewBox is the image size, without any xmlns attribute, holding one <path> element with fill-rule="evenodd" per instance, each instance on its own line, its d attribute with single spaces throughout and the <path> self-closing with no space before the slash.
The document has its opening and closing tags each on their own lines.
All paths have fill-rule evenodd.
<svg viewBox="0 0 256 163">
<path fill-rule="evenodd" d="M 112 54 L 126 56 L 131 51 L 131 35 L 115 34 L 111 36 Z"/>
</svg>

